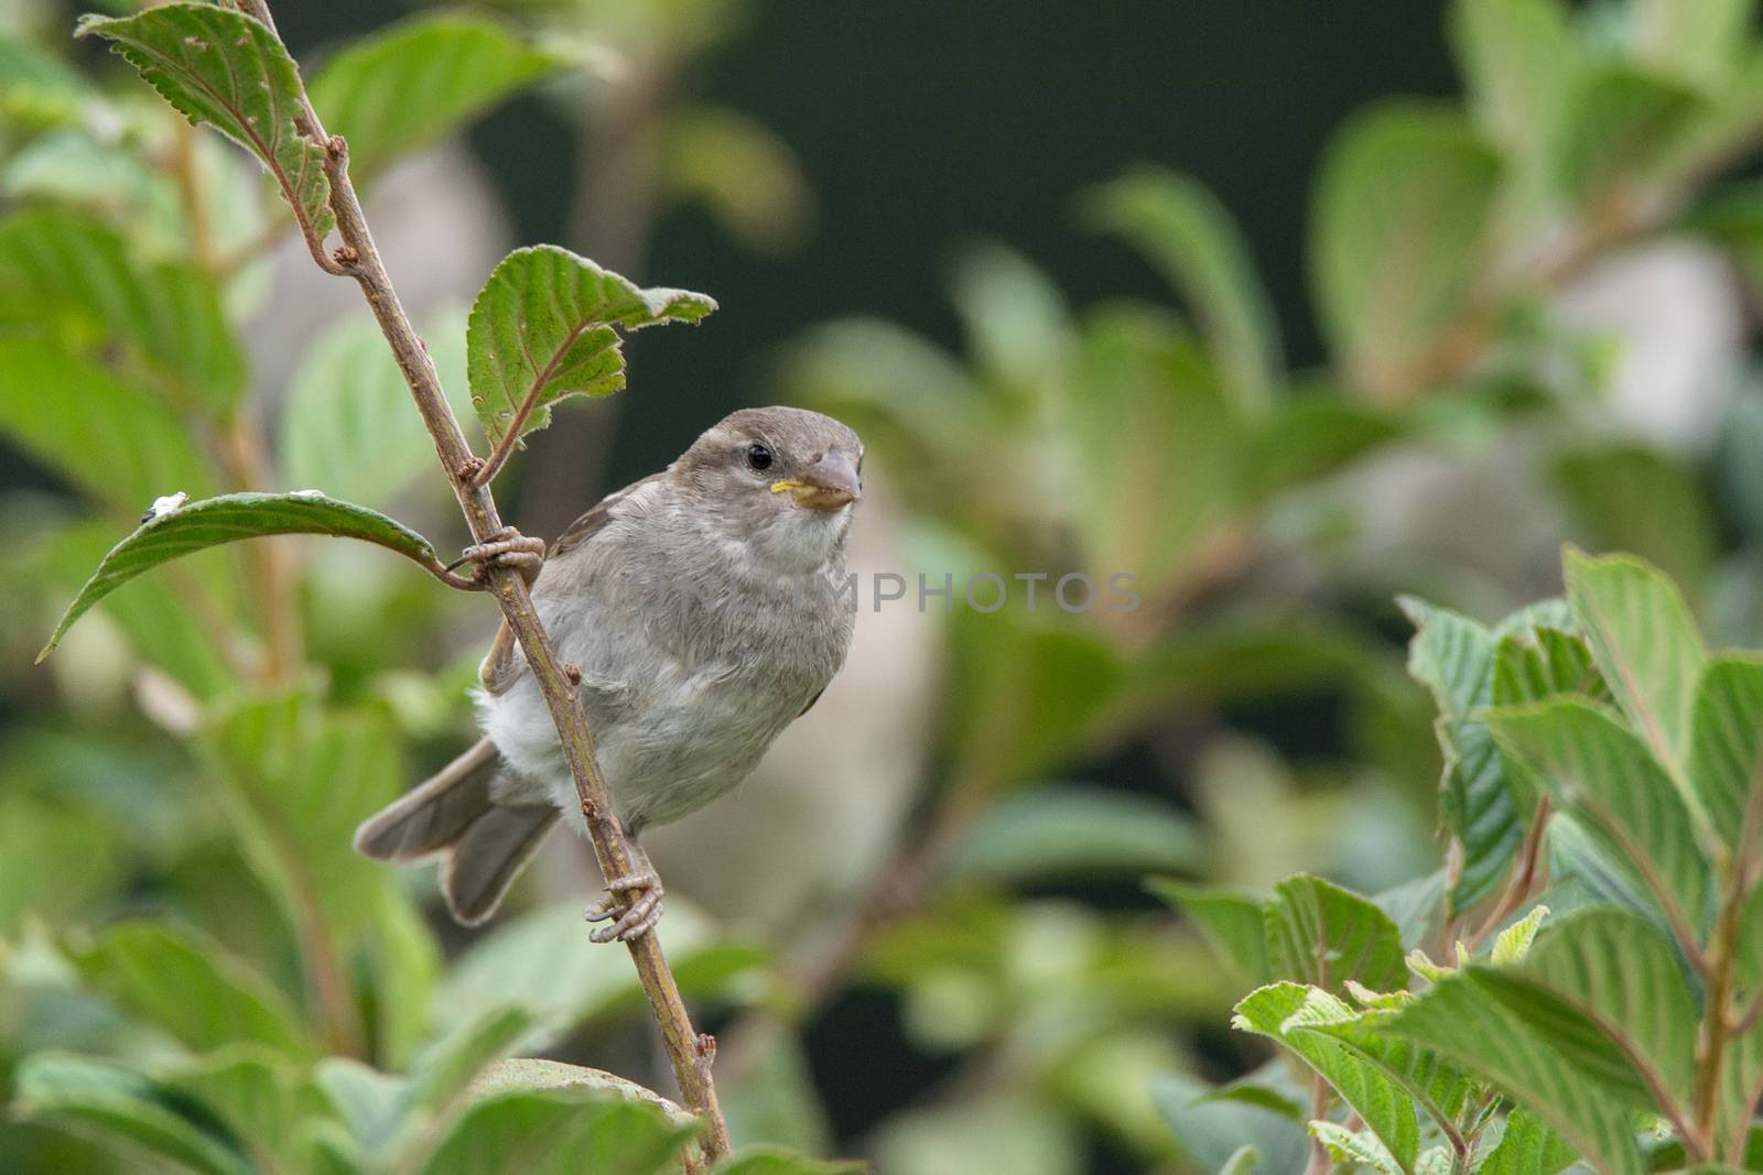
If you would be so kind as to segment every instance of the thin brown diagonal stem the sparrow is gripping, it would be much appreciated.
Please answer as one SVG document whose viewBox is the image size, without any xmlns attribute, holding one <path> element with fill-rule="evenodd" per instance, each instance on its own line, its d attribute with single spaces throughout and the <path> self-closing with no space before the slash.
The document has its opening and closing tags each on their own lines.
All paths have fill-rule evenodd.
<svg viewBox="0 0 1763 1175">
<path fill-rule="evenodd" d="M 242 7 L 275 32 L 275 21 L 270 16 L 266 0 L 242 0 Z M 356 197 L 354 185 L 349 181 L 347 144 L 340 136 L 324 136 L 323 125 L 303 92 L 300 100 L 307 129 L 319 143 L 324 143 L 324 173 L 331 185 L 330 204 L 337 217 L 337 233 L 344 241 L 342 248 L 333 254 L 335 270 L 331 266 L 324 268 L 328 271 L 347 273 L 361 287 L 361 294 L 367 298 L 367 305 L 379 321 L 379 329 L 384 333 L 386 344 L 398 361 L 404 382 L 416 400 L 416 410 L 421 412 L 423 425 L 428 428 L 428 435 L 434 437 L 441 465 L 446 469 L 453 495 L 465 514 L 472 539 L 483 543 L 502 525 L 488 486 L 478 484 L 474 479 L 483 463 L 472 456 L 471 446 L 465 442 L 465 433 L 460 430 L 453 409 L 448 407 L 446 396 L 441 393 L 441 379 L 428 358 L 428 351 L 411 328 L 404 307 L 398 305 L 391 278 L 386 275 L 386 266 L 374 247 L 374 236 L 368 233 L 367 218 L 361 215 L 361 203 Z M 624 839 L 624 830 L 612 812 L 606 779 L 601 775 L 599 763 L 594 757 L 594 736 L 589 733 L 587 719 L 577 705 L 575 687 L 557 661 L 557 650 L 552 647 L 532 608 L 532 597 L 527 595 L 525 581 L 515 571 L 490 567 L 488 588 L 497 606 L 501 606 L 510 631 L 520 641 L 532 678 L 545 694 L 545 705 L 550 708 L 552 722 L 557 726 L 564 759 L 569 763 L 569 773 L 575 777 L 582 817 L 587 823 L 587 833 L 594 844 L 594 856 L 599 860 L 601 872 L 606 877 L 636 872 L 636 861 Z M 636 976 L 642 979 L 643 994 L 649 997 L 656 1027 L 661 1031 L 661 1043 L 673 1062 L 673 1076 L 679 1082 L 681 1096 L 703 1119 L 707 1127 L 703 1138 L 705 1157 L 716 1161 L 726 1156 L 730 1149 L 728 1126 L 723 1122 L 721 1108 L 716 1103 L 716 1087 L 710 1082 L 710 1060 L 716 1055 L 716 1041 L 693 1031 L 691 1016 L 679 995 L 679 985 L 673 981 L 666 957 L 661 953 L 659 939 L 654 934 L 645 934 L 626 946 L 631 951 L 631 962 L 636 965 Z"/>
</svg>

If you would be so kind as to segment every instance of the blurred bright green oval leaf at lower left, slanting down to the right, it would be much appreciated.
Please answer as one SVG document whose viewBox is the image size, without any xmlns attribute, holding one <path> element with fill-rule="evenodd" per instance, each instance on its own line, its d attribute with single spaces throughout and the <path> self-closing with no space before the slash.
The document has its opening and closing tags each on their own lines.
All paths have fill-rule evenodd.
<svg viewBox="0 0 1763 1175">
<path fill-rule="evenodd" d="M 92 990 L 192 1052 L 256 1041 L 291 1057 L 312 1055 L 282 994 L 190 930 L 127 921 L 69 955 Z"/>
</svg>

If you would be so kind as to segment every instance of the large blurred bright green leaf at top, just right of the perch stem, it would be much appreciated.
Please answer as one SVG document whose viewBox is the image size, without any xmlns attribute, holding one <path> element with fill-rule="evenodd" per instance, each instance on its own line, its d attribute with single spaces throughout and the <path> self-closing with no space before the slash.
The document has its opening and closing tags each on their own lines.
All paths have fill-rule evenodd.
<svg viewBox="0 0 1763 1175">
<path fill-rule="evenodd" d="M 481 16 L 420 16 L 351 42 L 314 74 L 312 107 L 349 141 L 349 176 L 363 185 L 397 155 L 476 120 L 562 58 Z"/>
</svg>

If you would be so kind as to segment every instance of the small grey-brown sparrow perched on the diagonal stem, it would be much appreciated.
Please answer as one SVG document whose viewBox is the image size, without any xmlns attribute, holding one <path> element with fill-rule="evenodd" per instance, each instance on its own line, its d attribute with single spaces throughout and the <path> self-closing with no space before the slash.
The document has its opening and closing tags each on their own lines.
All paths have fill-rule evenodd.
<svg viewBox="0 0 1763 1175">
<path fill-rule="evenodd" d="M 742 409 L 663 472 L 608 495 L 547 551 L 504 528 L 462 562 L 527 578 L 580 703 L 636 868 L 587 909 L 596 942 L 661 916 L 640 837 L 721 796 L 844 664 L 857 622 L 844 544 L 864 447 L 804 409 Z M 464 925 L 488 920 L 559 816 L 585 835 L 575 780 L 508 625 L 472 691 L 483 738 L 368 817 L 356 851 L 441 854 L 441 893 Z"/>
</svg>

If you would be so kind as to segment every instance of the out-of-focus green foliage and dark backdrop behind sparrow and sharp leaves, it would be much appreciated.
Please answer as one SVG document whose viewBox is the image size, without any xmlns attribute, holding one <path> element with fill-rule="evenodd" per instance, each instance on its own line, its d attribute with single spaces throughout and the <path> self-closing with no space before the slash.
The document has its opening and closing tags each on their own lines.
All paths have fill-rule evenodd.
<svg viewBox="0 0 1763 1175">
<path fill-rule="evenodd" d="M 1137 578 L 1130 613 L 866 610 L 760 773 L 656 837 L 737 1142 L 1215 1170 L 1234 1147 L 1160 1105 L 1269 1053 L 1144 876 L 1386 893 L 1454 846 L 1449 916 L 1502 876 L 1513 826 L 1449 787 L 1435 835 L 1400 592 L 1491 622 L 1558 594 L 1562 541 L 1620 546 L 1756 643 L 1752 5 L 1093 9 L 508 0 L 460 18 L 506 37 L 494 65 L 418 53 L 377 90 L 347 70 L 411 11 L 277 11 L 460 400 L 464 307 L 513 245 L 721 303 L 531 439 L 502 488 L 527 534 L 790 402 L 869 446 L 853 567 Z M 234 546 L 32 668 L 160 493 L 319 486 L 462 530 L 256 166 L 71 9 L 0 14 L 0 1170 L 169 1166 L 58 1105 L 160 1099 L 196 1170 L 381 1170 L 502 1053 L 665 1087 L 624 953 L 580 927 L 585 846 L 474 935 L 349 851 L 469 738 L 483 601 L 370 548 Z M 256 1110 L 215 1094 L 247 1080 Z M 264 1103 L 247 1154 L 215 1142 Z"/>
</svg>

